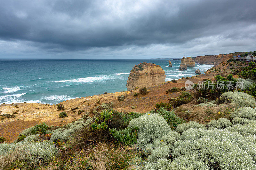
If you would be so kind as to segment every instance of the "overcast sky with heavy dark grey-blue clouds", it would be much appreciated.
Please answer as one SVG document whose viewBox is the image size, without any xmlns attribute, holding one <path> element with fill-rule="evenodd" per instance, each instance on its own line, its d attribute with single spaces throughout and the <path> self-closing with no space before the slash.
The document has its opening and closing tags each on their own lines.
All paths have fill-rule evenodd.
<svg viewBox="0 0 256 170">
<path fill-rule="evenodd" d="M 0 0 L 0 58 L 164 58 L 255 50 L 255 0 Z"/>
</svg>

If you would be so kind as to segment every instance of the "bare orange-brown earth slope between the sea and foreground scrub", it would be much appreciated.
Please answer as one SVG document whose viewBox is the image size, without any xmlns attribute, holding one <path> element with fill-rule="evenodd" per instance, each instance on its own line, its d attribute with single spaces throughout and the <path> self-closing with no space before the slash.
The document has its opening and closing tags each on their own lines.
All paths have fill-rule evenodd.
<svg viewBox="0 0 256 170">
<path fill-rule="evenodd" d="M 168 61 L 168 60 L 167 60 Z M 78 118 L 81 118 L 83 113 L 90 112 L 89 116 L 92 117 L 93 108 L 99 106 L 101 103 L 114 103 L 114 108 L 118 111 L 125 112 L 148 112 L 155 108 L 156 103 L 169 102 L 170 98 L 176 98 L 180 95 L 180 92 L 173 92 L 166 94 L 166 90 L 172 87 L 184 87 L 187 80 L 194 83 L 202 81 L 204 79 L 213 80 L 217 74 L 229 74 L 232 70 L 232 66 L 229 66 L 227 62 L 222 62 L 221 64 L 212 67 L 207 70 L 205 74 L 195 75 L 189 78 L 183 77 L 177 80 L 177 83 L 172 81 L 163 82 L 157 86 L 147 88 L 147 95 L 138 95 L 134 97 L 135 93 L 139 93 L 139 89 L 107 93 L 101 95 L 87 96 L 76 99 L 71 99 L 67 101 L 60 102 L 65 107 L 65 112 L 68 117 L 60 118 L 59 113 L 61 111 L 57 110 L 57 105 L 43 104 L 43 103 L 13 103 L 13 104 L 2 104 L 0 105 L 0 117 L 3 114 L 12 115 L 13 112 L 18 110 L 16 117 L 5 118 L 0 120 L 0 136 L 7 138 L 8 143 L 13 142 L 17 139 L 18 135 L 24 129 L 35 126 L 42 122 L 49 125 L 64 125 L 70 123 Z M 191 92 L 192 90 L 188 90 Z M 124 101 L 119 102 L 117 100 L 118 96 L 124 95 Z M 131 106 L 135 106 L 134 109 Z M 84 110 L 82 114 L 77 112 L 72 112 L 72 108 L 78 107 L 78 110 Z"/>
</svg>

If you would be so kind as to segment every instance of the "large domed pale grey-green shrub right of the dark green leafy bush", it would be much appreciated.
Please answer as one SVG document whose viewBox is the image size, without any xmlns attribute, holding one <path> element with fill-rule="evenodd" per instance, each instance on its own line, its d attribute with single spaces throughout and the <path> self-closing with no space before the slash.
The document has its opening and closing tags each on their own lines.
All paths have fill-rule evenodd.
<svg viewBox="0 0 256 170">
<path fill-rule="evenodd" d="M 146 113 L 140 117 L 132 119 L 128 127 L 139 128 L 136 146 L 143 149 L 151 141 L 161 139 L 162 136 L 171 131 L 168 123 L 157 113 Z"/>
</svg>

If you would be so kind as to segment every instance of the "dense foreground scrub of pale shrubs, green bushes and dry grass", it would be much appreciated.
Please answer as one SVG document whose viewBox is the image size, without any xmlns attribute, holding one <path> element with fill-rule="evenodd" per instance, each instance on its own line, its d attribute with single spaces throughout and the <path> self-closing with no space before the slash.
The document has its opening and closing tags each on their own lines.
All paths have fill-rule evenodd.
<svg viewBox="0 0 256 170">
<path fill-rule="evenodd" d="M 256 169 L 254 97 L 214 90 L 214 97 L 180 92 L 148 113 L 102 103 L 93 117 L 83 112 L 66 125 L 38 124 L 0 144 L 0 169 Z"/>
</svg>

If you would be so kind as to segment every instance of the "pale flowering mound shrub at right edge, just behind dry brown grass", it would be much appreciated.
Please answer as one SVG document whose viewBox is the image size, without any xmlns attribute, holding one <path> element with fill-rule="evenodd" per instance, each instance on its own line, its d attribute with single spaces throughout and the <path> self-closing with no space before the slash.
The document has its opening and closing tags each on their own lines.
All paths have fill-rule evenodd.
<svg viewBox="0 0 256 170">
<path fill-rule="evenodd" d="M 220 96 L 220 100 L 236 104 L 238 107 L 256 107 L 254 97 L 243 92 L 225 92 Z"/>
</svg>

